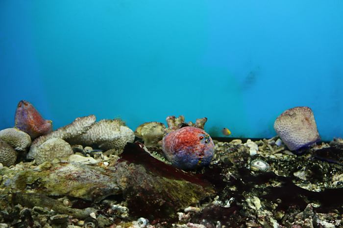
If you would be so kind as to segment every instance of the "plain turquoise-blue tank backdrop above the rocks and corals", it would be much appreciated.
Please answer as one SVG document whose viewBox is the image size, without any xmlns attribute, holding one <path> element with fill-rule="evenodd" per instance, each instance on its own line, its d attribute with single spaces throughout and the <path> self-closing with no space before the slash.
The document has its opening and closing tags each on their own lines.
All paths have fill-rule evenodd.
<svg viewBox="0 0 343 228">
<path fill-rule="evenodd" d="M 343 1 L 0 0 L 0 78 L 0 129 L 25 99 L 55 128 L 184 114 L 232 137 L 309 106 L 343 137 Z"/>
</svg>

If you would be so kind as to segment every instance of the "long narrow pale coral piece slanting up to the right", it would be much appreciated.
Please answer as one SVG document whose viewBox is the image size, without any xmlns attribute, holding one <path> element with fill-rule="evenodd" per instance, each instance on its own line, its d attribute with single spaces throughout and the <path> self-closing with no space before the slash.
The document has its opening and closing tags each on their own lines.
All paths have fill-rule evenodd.
<svg viewBox="0 0 343 228">
<path fill-rule="evenodd" d="M 39 153 L 39 146 L 50 138 L 61 138 L 65 141 L 81 135 L 92 126 L 96 121 L 95 115 L 88 115 L 76 118 L 71 124 L 61 127 L 49 135 L 41 136 L 32 142 L 30 151 L 27 154 L 28 159 L 34 159 L 36 154 Z"/>
</svg>

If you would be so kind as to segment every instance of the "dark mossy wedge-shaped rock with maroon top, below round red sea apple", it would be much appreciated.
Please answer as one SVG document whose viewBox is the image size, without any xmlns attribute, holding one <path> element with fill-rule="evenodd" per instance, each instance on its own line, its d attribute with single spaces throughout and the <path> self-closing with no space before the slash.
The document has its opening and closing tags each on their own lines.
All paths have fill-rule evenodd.
<svg viewBox="0 0 343 228">
<path fill-rule="evenodd" d="M 176 217 L 179 209 L 215 193 L 208 182 L 154 159 L 139 144 L 127 144 L 121 157 L 115 175 L 130 215 Z"/>
</svg>

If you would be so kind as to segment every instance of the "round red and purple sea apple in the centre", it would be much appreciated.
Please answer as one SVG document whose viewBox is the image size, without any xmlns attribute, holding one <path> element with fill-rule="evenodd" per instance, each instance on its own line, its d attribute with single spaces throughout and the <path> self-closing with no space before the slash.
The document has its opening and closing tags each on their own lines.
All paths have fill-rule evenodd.
<svg viewBox="0 0 343 228">
<path fill-rule="evenodd" d="M 214 144 L 204 130 L 183 127 L 163 137 L 162 150 L 167 160 L 175 167 L 193 169 L 210 163 Z"/>
</svg>

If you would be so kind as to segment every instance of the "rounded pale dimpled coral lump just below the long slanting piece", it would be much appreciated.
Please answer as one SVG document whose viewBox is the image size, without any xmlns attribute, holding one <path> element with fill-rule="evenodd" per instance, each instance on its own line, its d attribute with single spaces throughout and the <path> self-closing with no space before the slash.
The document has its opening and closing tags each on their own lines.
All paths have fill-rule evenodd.
<svg viewBox="0 0 343 228">
<path fill-rule="evenodd" d="M 68 142 L 61 138 L 50 138 L 38 147 L 35 160 L 37 164 L 52 161 L 73 154 L 73 149 Z"/>
</svg>

